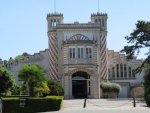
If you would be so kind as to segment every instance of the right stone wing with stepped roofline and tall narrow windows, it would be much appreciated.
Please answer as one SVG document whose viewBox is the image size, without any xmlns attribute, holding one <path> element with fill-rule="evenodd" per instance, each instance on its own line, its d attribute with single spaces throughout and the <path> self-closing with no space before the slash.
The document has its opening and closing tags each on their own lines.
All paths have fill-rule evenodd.
<svg viewBox="0 0 150 113">
<path fill-rule="evenodd" d="M 120 98 L 132 97 L 132 88 L 143 84 L 144 73 L 135 74 L 134 69 L 142 64 L 136 58 L 127 60 L 124 54 L 108 50 L 108 79 L 121 85 Z M 142 90 L 141 90 L 142 92 Z M 141 95 L 140 93 L 138 95 Z M 141 97 L 141 96 L 140 96 Z"/>
</svg>

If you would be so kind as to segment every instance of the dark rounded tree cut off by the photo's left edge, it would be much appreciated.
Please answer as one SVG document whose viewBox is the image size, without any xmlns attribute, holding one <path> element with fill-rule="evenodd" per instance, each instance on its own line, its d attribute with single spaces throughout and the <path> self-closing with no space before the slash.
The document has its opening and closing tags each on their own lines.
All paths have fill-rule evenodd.
<svg viewBox="0 0 150 113">
<path fill-rule="evenodd" d="M 0 95 L 12 91 L 16 85 L 13 74 L 4 66 L 0 65 Z"/>
</svg>

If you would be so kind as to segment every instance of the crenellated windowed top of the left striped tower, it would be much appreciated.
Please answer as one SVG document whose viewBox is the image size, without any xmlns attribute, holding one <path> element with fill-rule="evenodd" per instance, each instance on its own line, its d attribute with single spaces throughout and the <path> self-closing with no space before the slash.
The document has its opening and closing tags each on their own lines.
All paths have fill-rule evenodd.
<svg viewBox="0 0 150 113">
<path fill-rule="evenodd" d="M 63 14 L 48 14 L 47 15 L 47 22 L 48 22 L 48 31 L 55 30 L 57 24 L 63 23 Z"/>
</svg>

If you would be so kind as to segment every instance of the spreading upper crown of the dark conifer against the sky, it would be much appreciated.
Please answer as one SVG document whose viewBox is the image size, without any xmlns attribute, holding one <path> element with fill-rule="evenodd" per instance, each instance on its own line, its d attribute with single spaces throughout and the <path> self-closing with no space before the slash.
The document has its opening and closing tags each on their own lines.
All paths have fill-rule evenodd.
<svg viewBox="0 0 150 113">
<path fill-rule="evenodd" d="M 133 59 L 133 57 L 140 53 L 141 49 L 148 49 L 145 53 L 147 58 L 143 61 L 142 65 L 136 69 L 137 72 L 140 72 L 144 69 L 145 64 L 150 63 L 150 22 L 138 21 L 136 29 L 130 36 L 126 36 L 125 39 L 130 45 L 124 46 L 121 52 L 125 52 L 128 59 Z"/>
</svg>

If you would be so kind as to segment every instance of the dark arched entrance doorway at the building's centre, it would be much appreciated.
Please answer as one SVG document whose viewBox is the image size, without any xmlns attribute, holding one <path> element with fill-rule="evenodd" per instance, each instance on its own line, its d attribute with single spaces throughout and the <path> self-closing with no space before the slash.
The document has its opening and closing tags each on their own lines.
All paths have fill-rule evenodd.
<svg viewBox="0 0 150 113">
<path fill-rule="evenodd" d="M 83 71 L 75 72 L 72 75 L 72 96 L 73 98 L 87 98 L 90 94 L 90 75 Z"/>
</svg>

